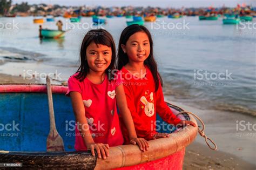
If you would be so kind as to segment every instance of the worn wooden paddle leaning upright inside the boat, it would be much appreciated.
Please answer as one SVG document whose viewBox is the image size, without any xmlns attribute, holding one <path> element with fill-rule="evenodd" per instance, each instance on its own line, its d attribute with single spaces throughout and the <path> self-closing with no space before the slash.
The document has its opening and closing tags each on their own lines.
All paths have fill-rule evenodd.
<svg viewBox="0 0 256 170">
<path fill-rule="evenodd" d="M 50 113 L 50 132 L 48 134 L 46 149 L 47 152 L 55 152 L 55 151 L 64 151 L 63 139 L 60 137 L 59 133 L 56 130 L 54 111 L 53 111 L 53 102 L 52 102 L 52 93 L 51 93 L 51 80 L 47 76 L 47 95 L 48 95 L 48 105 L 49 105 L 49 113 Z"/>
</svg>

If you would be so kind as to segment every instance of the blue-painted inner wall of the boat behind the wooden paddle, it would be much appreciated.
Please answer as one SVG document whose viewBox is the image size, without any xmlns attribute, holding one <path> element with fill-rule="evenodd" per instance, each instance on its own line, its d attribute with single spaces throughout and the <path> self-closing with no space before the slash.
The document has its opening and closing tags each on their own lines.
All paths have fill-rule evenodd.
<svg viewBox="0 0 256 170">
<path fill-rule="evenodd" d="M 50 130 L 48 98 L 46 93 L 0 93 L 0 150 L 46 151 Z M 75 125 L 70 98 L 53 94 L 56 128 L 64 141 L 65 151 L 75 151 Z M 73 123 L 72 123 L 73 122 Z M 3 126 L 8 128 L 4 128 Z M 10 130 L 10 131 L 9 131 Z M 67 135 L 71 135 L 68 137 Z"/>
</svg>

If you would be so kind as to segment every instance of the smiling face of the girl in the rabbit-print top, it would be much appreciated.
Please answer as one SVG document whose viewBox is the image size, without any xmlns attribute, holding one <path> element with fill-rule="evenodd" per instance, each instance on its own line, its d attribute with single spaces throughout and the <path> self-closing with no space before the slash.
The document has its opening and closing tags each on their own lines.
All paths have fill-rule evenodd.
<svg viewBox="0 0 256 170">
<path fill-rule="evenodd" d="M 150 42 L 145 32 L 136 32 L 129 37 L 126 44 L 122 44 L 130 62 L 144 62 L 150 54 Z"/>
</svg>

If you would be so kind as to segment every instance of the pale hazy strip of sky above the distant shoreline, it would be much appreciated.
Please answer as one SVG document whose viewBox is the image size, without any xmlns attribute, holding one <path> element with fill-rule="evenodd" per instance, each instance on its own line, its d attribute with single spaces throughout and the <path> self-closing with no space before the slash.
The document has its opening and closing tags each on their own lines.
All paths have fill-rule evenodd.
<svg viewBox="0 0 256 170">
<path fill-rule="evenodd" d="M 238 3 L 252 4 L 256 6 L 256 0 L 12 0 L 13 3 L 28 2 L 29 4 L 59 4 L 59 5 L 102 5 L 102 6 L 159 6 L 159 7 L 173 7 L 180 8 L 185 7 L 200 7 L 210 6 L 220 7 L 225 6 L 236 6 Z"/>
</svg>

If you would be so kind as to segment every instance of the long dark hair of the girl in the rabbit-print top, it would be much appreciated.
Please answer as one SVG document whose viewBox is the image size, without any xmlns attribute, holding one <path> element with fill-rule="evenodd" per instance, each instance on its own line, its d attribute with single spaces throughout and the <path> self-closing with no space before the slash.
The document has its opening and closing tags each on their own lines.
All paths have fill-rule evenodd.
<svg viewBox="0 0 256 170">
<path fill-rule="evenodd" d="M 160 76 L 160 74 L 157 71 L 157 62 L 154 60 L 153 56 L 153 40 L 151 37 L 151 34 L 149 30 L 145 26 L 133 24 L 130 26 L 127 26 L 121 33 L 119 44 L 118 44 L 118 52 L 117 52 L 117 69 L 121 70 L 123 66 L 125 66 L 127 63 L 129 63 L 129 58 L 126 53 L 124 53 L 121 45 L 126 45 L 127 40 L 136 32 L 145 32 L 147 37 L 149 37 L 150 42 L 150 54 L 149 57 L 144 61 L 144 64 L 149 67 L 155 84 L 155 90 L 158 90 L 159 87 L 159 81 L 161 83 L 161 86 L 163 85 L 163 80 Z"/>
</svg>

